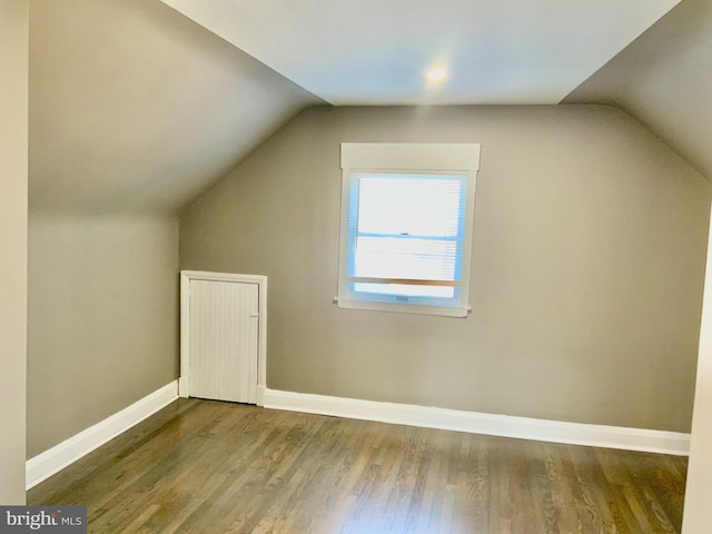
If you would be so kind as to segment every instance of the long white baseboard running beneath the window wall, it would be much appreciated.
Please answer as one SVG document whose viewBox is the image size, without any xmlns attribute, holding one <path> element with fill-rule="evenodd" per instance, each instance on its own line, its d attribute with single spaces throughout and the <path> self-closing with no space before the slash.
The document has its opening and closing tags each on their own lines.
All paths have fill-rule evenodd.
<svg viewBox="0 0 712 534">
<path fill-rule="evenodd" d="M 690 434 L 482 414 L 266 389 L 266 408 L 542 442 L 686 456 Z"/>
</svg>

